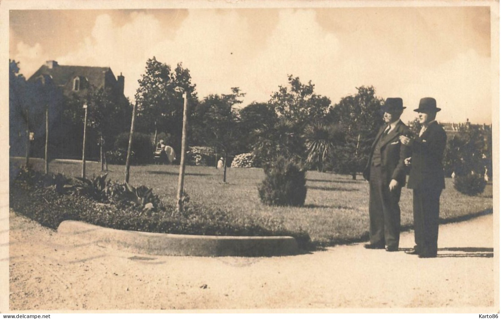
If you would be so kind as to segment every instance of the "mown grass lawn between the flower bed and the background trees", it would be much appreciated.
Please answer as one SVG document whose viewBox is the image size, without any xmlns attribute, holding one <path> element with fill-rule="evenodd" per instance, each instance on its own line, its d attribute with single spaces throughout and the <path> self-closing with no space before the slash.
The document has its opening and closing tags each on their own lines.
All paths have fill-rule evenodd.
<svg viewBox="0 0 501 319">
<path fill-rule="evenodd" d="M 23 163 L 23 159 L 12 159 Z M 43 160 L 31 161 L 35 169 L 43 170 Z M 109 165 L 108 177 L 123 181 L 123 165 Z M 68 176 L 80 176 L 78 161 L 52 161 L 51 172 Z M 87 162 L 87 177 L 101 173 L 101 165 Z M 153 188 L 164 202 L 175 201 L 179 166 L 144 165 L 131 166 L 129 183 Z M 306 231 L 314 244 L 329 246 L 338 243 L 368 239 L 369 184 L 361 176 L 352 180 L 349 175 L 334 173 L 307 173 L 306 202 L 304 207 L 276 207 L 261 203 L 258 185 L 264 179 L 259 168 L 228 168 L 226 183 L 222 182 L 222 170 L 206 166 L 186 166 L 185 191 L 190 201 L 220 208 L 238 216 L 267 217 L 296 232 Z M 466 196 L 457 192 L 452 180 L 446 178 L 446 188 L 440 198 L 441 222 L 458 221 L 471 216 L 492 212 L 492 184 L 478 196 Z M 403 229 L 412 226 L 412 190 L 403 188 L 400 199 Z M 270 217 L 270 218 L 268 218 Z M 266 225 L 263 225 L 266 227 Z"/>
</svg>

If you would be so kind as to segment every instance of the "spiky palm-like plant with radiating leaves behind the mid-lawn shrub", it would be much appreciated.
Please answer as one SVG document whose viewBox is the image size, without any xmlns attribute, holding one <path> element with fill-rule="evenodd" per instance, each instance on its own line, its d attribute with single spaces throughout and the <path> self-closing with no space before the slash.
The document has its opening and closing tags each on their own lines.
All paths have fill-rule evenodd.
<svg viewBox="0 0 501 319">
<path fill-rule="evenodd" d="M 314 121 L 307 125 L 303 137 L 308 153 L 306 162 L 310 165 L 316 165 L 319 171 L 323 170 L 323 164 L 331 149 L 342 142 L 344 138 L 339 125 L 322 121 Z"/>
</svg>

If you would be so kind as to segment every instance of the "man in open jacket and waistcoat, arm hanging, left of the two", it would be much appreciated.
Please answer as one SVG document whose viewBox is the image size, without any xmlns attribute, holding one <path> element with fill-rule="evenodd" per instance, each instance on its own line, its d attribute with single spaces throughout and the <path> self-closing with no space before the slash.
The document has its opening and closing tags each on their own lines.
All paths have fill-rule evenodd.
<svg viewBox="0 0 501 319">
<path fill-rule="evenodd" d="M 368 249 L 397 251 L 400 239 L 400 191 L 405 185 L 404 159 L 409 148 L 402 145 L 400 135 L 409 135 L 409 128 L 400 120 L 402 99 L 389 97 L 381 106 L 385 124 L 372 144 L 364 178 L 369 181 Z"/>
</svg>

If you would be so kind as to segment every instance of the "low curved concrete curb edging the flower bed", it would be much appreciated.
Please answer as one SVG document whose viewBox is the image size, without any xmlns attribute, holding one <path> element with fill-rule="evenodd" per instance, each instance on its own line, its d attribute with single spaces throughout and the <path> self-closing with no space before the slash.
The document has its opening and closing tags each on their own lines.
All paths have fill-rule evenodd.
<svg viewBox="0 0 501 319">
<path fill-rule="evenodd" d="M 175 256 L 278 256 L 298 253 L 290 236 L 203 236 L 118 230 L 65 220 L 58 233 L 134 253 Z"/>
</svg>

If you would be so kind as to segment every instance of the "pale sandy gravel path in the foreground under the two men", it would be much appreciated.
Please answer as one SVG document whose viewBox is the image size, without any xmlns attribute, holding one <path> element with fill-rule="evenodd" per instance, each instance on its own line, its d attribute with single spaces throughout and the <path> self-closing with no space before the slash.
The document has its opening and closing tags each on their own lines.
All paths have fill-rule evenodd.
<svg viewBox="0 0 501 319">
<path fill-rule="evenodd" d="M 431 259 L 361 243 L 285 257 L 137 255 L 12 211 L 10 224 L 11 310 L 499 307 L 492 215 L 441 225 Z"/>
</svg>

